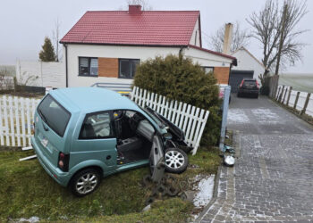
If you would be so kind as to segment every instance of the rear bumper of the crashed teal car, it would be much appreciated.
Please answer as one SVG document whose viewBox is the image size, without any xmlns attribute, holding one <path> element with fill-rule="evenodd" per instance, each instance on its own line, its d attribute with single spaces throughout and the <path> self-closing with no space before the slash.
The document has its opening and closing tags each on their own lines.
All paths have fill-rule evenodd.
<svg viewBox="0 0 313 223">
<path fill-rule="evenodd" d="M 40 151 L 38 143 L 34 137 L 31 137 L 31 145 L 37 154 L 38 161 L 41 166 L 46 170 L 47 174 L 61 186 L 67 186 L 71 176 L 68 172 L 63 172 L 59 168 L 55 168 L 50 161 L 47 160 L 46 156 Z"/>
</svg>

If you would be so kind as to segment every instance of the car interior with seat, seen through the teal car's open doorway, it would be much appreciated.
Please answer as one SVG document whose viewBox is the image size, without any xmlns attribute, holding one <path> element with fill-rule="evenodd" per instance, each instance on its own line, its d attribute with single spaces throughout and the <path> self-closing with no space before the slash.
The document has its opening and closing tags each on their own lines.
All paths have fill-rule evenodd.
<svg viewBox="0 0 313 223">
<path fill-rule="evenodd" d="M 136 111 L 114 111 L 117 164 L 148 160 L 155 129 Z"/>
</svg>

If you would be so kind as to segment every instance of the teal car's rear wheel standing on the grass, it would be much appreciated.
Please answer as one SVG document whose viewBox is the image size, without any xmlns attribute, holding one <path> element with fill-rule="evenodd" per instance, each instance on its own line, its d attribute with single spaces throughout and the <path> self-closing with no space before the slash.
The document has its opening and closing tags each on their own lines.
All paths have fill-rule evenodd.
<svg viewBox="0 0 313 223">
<path fill-rule="evenodd" d="M 74 175 L 70 187 L 72 194 L 76 196 L 86 196 L 97 189 L 101 181 L 101 176 L 97 169 L 82 169 Z"/>
</svg>

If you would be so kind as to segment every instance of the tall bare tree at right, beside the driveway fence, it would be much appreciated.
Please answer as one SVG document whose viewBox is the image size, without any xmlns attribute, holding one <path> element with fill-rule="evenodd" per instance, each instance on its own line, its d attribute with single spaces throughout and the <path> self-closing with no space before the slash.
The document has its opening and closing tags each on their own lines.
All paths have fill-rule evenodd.
<svg viewBox="0 0 313 223">
<path fill-rule="evenodd" d="M 262 45 L 262 62 L 266 70 L 275 68 L 280 46 L 281 66 L 294 65 L 301 60 L 301 49 L 305 44 L 297 41 L 297 37 L 308 30 L 297 30 L 296 27 L 307 12 L 306 1 L 285 0 L 280 5 L 278 0 L 266 0 L 260 12 L 250 15 L 247 21 L 253 28 L 252 37 Z"/>
</svg>

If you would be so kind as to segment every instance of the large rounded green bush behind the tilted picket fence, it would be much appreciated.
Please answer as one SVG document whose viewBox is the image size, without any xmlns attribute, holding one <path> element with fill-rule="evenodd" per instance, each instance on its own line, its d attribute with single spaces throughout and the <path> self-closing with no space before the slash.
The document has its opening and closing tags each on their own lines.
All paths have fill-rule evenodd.
<svg viewBox="0 0 313 223">
<path fill-rule="evenodd" d="M 216 145 L 221 122 L 219 89 L 214 75 L 207 75 L 199 64 L 173 54 L 141 62 L 134 86 L 210 111 L 201 144 Z"/>
</svg>

